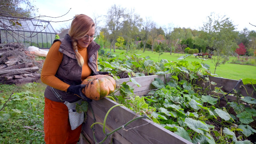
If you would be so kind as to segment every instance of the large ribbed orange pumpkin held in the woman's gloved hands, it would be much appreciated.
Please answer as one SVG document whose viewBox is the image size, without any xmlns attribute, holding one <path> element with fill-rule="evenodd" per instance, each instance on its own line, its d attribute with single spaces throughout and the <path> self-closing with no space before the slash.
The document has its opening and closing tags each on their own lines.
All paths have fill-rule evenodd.
<svg viewBox="0 0 256 144">
<path fill-rule="evenodd" d="M 89 76 L 81 84 L 85 84 L 82 89 L 83 94 L 89 99 L 100 100 L 113 93 L 116 88 L 116 81 L 108 75 Z"/>
</svg>

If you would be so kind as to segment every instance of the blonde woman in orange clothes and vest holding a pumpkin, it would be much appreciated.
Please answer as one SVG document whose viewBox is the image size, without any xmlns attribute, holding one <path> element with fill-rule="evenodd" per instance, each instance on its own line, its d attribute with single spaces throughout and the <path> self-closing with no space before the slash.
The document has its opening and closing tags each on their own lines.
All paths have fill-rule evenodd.
<svg viewBox="0 0 256 144">
<path fill-rule="evenodd" d="M 81 82 L 90 76 L 108 74 L 97 72 L 97 58 L 100 46 L 94 42 L 95 24 L 83 14 L 76 15 L 64 39 L 55 40 L 47 54 L 41 80 L 45 89 L 44 132 L 46 144 L 76 144 L 82 125 L 71 130 L 68 108 L 62 101 L 76 102 L 85 85 Z M 55 90 L 62 98 L 57 98 Z"/>
</svg>

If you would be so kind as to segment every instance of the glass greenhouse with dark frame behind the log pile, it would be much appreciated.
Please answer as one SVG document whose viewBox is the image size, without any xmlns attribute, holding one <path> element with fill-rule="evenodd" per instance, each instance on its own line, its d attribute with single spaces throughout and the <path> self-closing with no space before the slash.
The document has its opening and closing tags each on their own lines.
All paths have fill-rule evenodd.
<svg viewBox="0 0 256 144">
<path fill-rule="evenodd" d="M 50 22 L 36 19 L 0 17 L 0 29 L 0 43 L 19 42 L 41 49 L 50 48 L 56 35 Z"/>
</svg>

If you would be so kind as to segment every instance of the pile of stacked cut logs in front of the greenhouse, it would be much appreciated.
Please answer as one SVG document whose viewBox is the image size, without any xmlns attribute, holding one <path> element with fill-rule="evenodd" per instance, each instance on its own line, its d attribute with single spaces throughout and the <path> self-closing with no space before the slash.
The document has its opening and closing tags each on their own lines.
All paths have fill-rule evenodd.
<svg viewBox="0 0 256 144">
<path fill-rule="evenodd" d="M 38 72 L 41 66 L 42 62 L 36 61 L 23 44 L 0 44 L 0 83 L 36 82 L 40 79 Z"/>
</svg>

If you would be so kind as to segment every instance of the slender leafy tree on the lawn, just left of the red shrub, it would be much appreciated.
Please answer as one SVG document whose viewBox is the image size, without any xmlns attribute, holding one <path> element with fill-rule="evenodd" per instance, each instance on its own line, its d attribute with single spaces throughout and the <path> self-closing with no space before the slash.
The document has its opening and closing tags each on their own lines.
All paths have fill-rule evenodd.
<svg viewBox="0 0 256 144">
<path fill-rule="evenodd" d="M 237 48 L 236 39 L 238 32 L 235 31 L 235 25 L 226 16 L 215 17 L 214 13 L 211 13 L 207 17 L 208 22 L 204 23 L 202 28 L 207 32 L 208 50 L 213 51 L 212 62 L 215 65 L 214 74 L 217 66 L 225 64 L 229 60 L 229 56 L 233 54 L 233 49 Z"/>
</svg>

